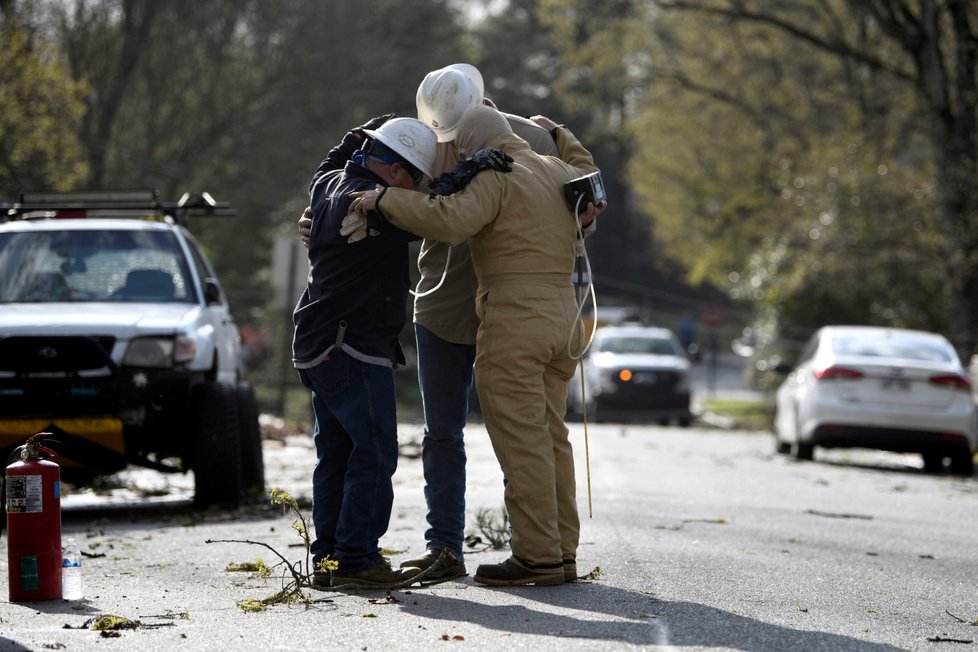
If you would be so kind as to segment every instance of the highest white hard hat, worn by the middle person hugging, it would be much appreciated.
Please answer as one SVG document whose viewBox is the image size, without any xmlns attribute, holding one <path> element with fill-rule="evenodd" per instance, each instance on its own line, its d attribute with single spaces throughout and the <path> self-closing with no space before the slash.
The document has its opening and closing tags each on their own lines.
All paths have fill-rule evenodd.
<svg viewBox="0 0 978 652">
<path fill-rule="evenodd" d="M 454 140 L 462 114 L 482 104 L 483 95 L 482 73 L 475 66 L 453 63 L 433 70 L 418 86 L 418 119 L 434 129 L 438 142 Z"/>
</svg>

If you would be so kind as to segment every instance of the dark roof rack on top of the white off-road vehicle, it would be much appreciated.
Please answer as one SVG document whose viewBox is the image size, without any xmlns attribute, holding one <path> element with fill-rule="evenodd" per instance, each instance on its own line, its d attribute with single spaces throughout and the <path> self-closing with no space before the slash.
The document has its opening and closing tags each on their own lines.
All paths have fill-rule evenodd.
<svg viewBox="0 0 978 652">
<path fill-rule="evenodd" d="M 14 204 L 0 204 L 0 221 L 29 219 L 128 218 L 174 221 L 186 224 L 189 217 L 234 217 L 228 202 L 216 201 L 210 193 L 185 192 L 178 201 L 160 200 L 158 190 L 75 190 L 70 192 L 25 192 Z"/>
</svg>

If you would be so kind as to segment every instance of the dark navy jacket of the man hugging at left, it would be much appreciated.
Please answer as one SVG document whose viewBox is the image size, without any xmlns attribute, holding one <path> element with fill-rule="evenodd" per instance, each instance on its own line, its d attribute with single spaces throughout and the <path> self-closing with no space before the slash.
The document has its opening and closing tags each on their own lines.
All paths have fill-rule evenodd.
<svg viewBox="0 0 978 652">
<path fill-rule="evenodd" d="M 345 321 L 344 344 L 361 356 L 403 362 L 398 335 L 410 287 L 408 242 L 419 238 L 383 223 L 380 235 L 348 243 L 340 225 L 349 212 L 349 194 L 386 184 L 356 163 L 334 169 L 336 164 L 327 157 L 311 185 L 309 279 L 292 316 L 293 361 L 298 367 L 321 362 Z"/>
</svg>

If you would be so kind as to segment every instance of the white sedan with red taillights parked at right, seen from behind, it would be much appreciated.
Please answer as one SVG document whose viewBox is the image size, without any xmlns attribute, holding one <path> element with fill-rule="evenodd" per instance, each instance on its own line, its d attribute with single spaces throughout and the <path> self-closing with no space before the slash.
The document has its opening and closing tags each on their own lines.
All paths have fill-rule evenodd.
<svg viewBox="0 0 978 652">
<path fill-rule="evenodd" d="M 941 335 L 825 326 L 778 388 L 779 453 L 810 460 L 815 446 L 919 453 L 930 472 L 950 459 L 971 476 L 978 413 L 971 381 Z"/>
</svg>

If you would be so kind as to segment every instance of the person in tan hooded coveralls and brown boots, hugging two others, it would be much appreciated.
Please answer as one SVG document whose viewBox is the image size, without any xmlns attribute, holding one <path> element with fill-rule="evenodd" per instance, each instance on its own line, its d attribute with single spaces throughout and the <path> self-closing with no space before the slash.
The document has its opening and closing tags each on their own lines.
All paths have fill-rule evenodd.
<svg viewBox="0 0 978 652">
<path fill-rule="evenodd" d="M 479 566 L 475 575 L 494 586 L 563 583 L 580 535 L 574 454 L 563 421 L 576 363 L 571 349 L 579 341 L 571 285 L 578 224 L 563 184 L 597 168 L 568 130 L 555 127 L 553 134 L 566 163 L 534 154 L 498 111 L 475 107 L 459 124 L 459 153 L 500 149 L 514 159 L 510 173 L 484 171 L 445 197 L 355 193 L 351 205 L 425 238 L 469 241 L 480 319 L 476 386 L 507 479 L 513 526 L 512 556 Z"/>
</svg>

